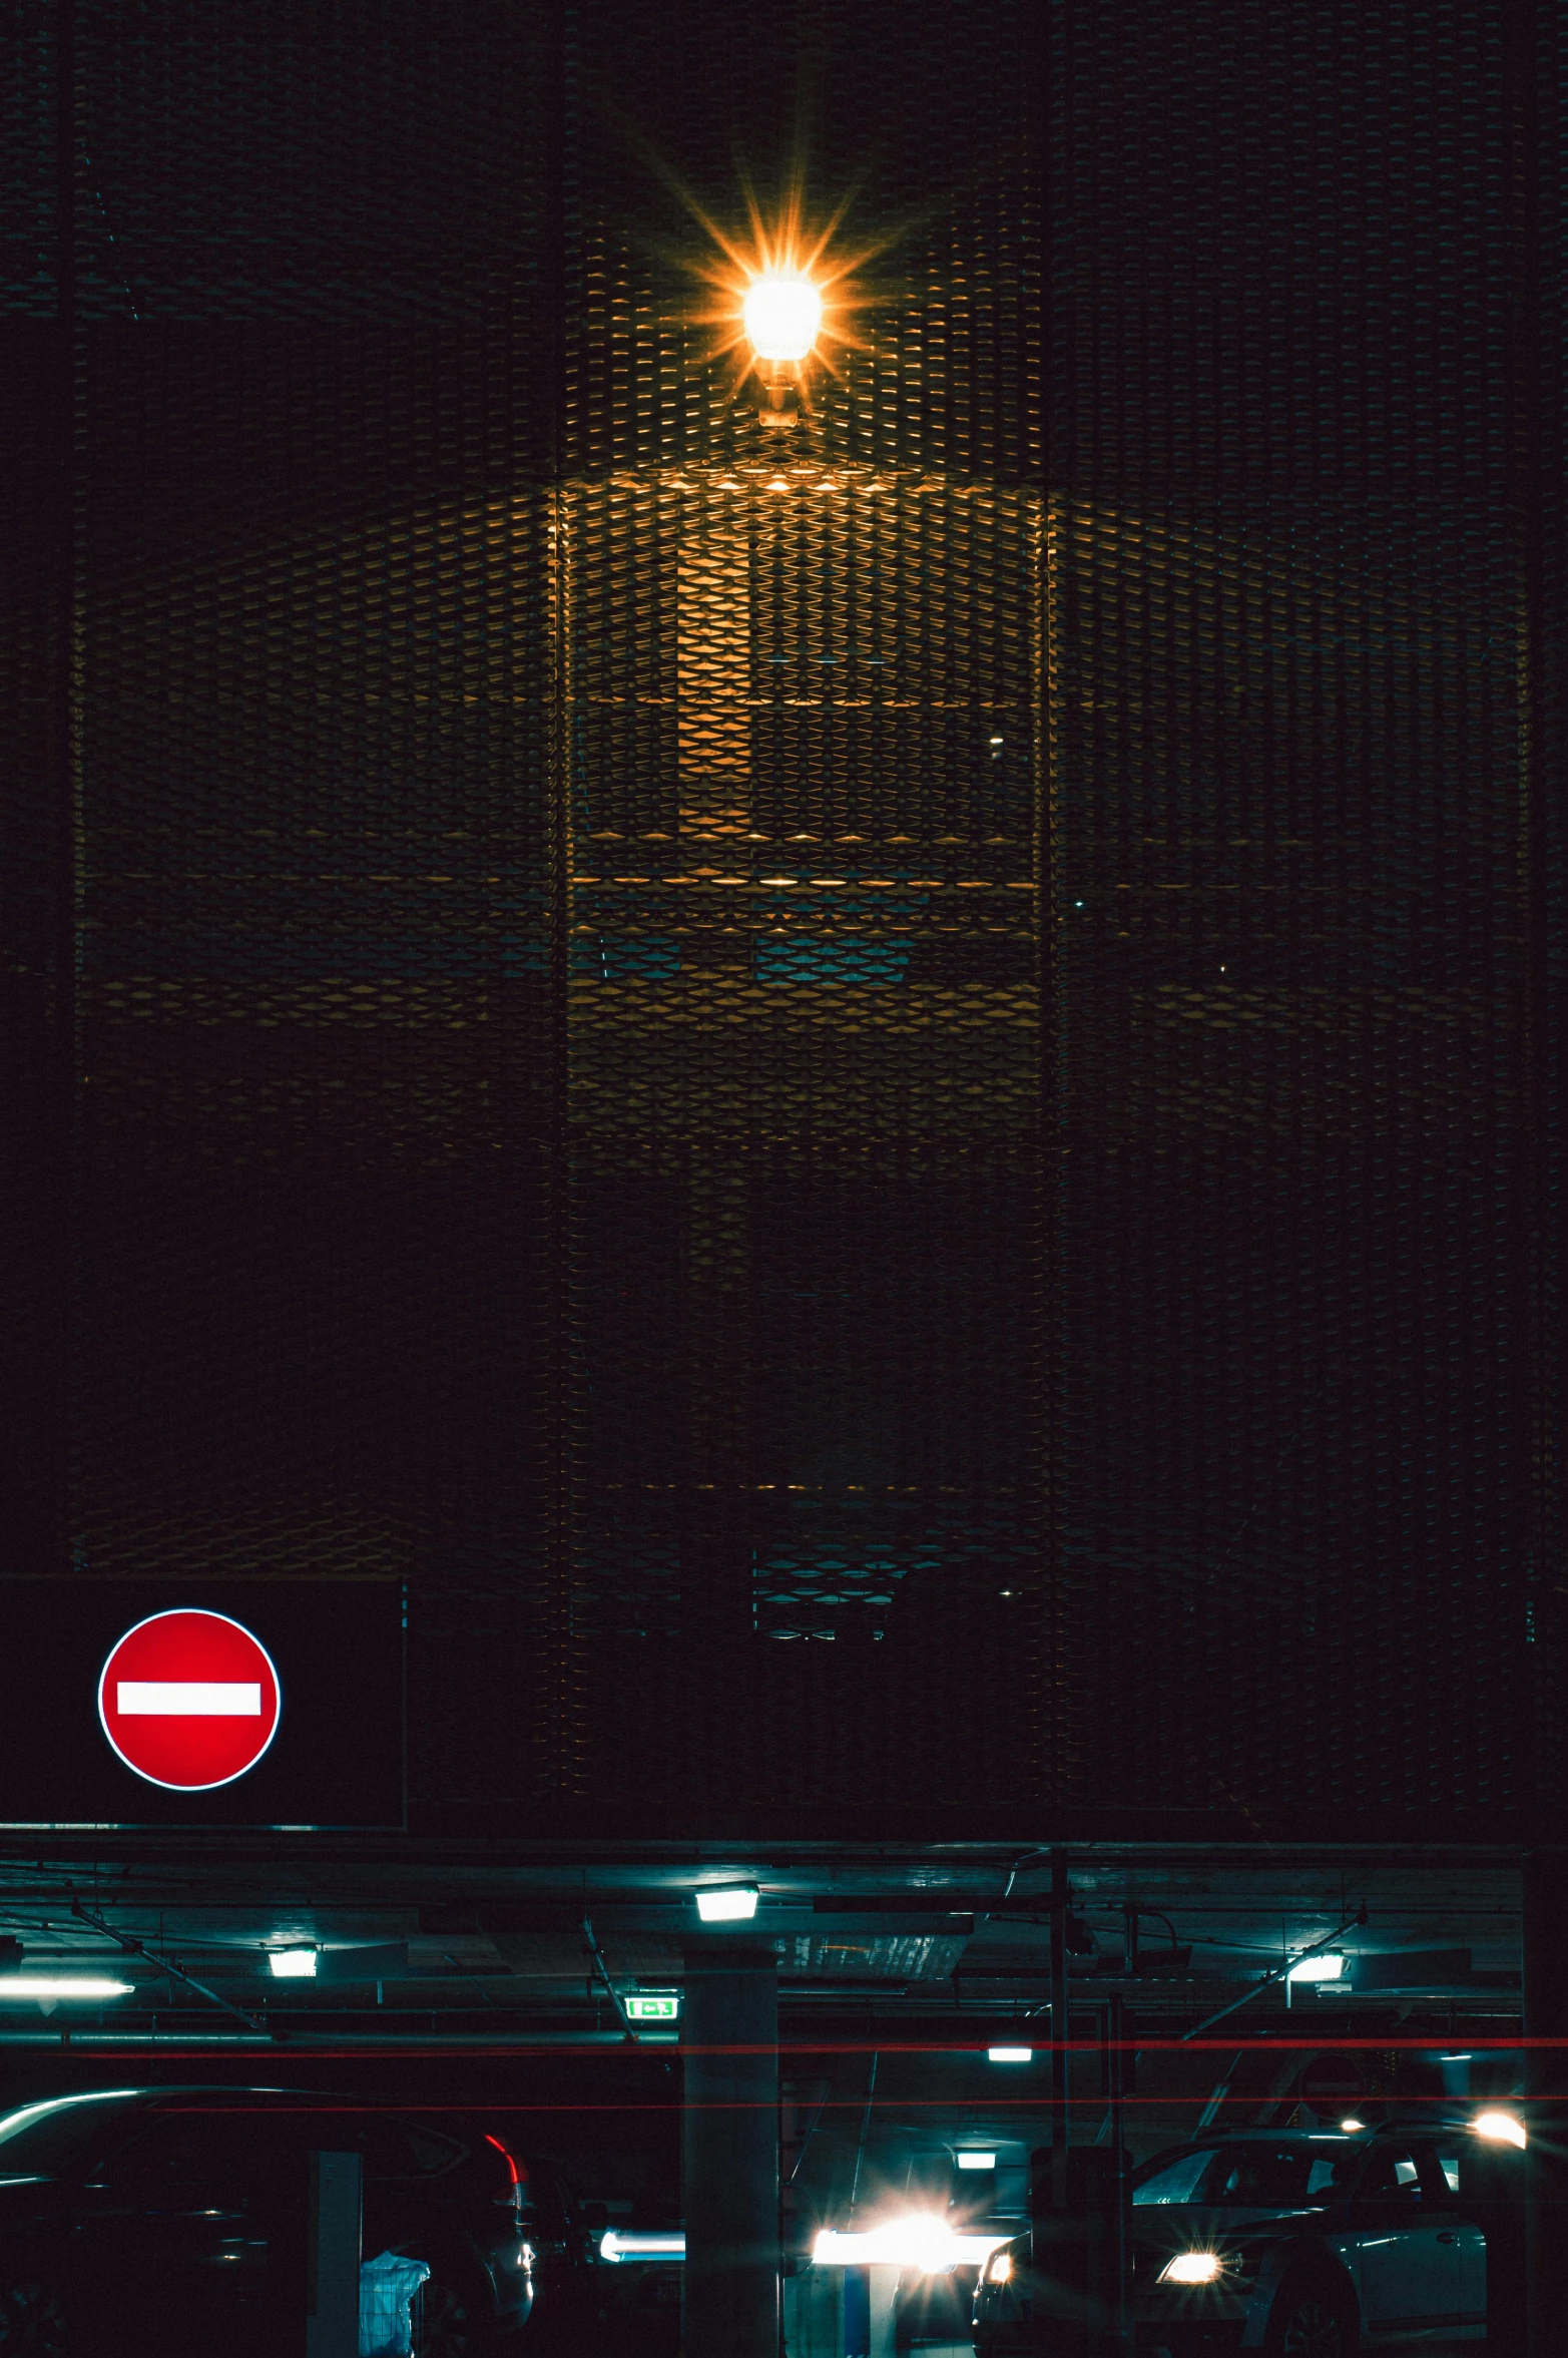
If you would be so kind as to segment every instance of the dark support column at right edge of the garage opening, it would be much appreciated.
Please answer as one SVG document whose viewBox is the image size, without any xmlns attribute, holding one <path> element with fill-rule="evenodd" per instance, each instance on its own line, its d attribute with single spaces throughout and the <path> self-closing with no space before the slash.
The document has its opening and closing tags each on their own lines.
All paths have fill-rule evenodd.
<svg viewBox="0 0 1568 2358">
<path fill-rule="evenodd" d="M 1526 2351 L 1556 2358 L 1568 2334 L 1568 2047 L 1537 2042 L 1568 2040 L 1568 1851 L 1526 1858 L 1523 2023 Z"/>
</svg>

